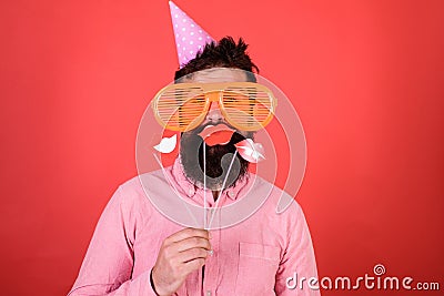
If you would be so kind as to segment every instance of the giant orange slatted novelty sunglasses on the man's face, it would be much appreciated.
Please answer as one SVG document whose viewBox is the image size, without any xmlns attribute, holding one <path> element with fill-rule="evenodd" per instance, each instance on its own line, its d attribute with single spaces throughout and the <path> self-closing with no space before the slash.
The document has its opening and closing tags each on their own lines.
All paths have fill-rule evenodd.
<svg viewBox="0 0 444 296">
<path fill-rule="evenodd" d="M 273 119 L 276 99 L 253 82 L 176 83 L 155 94 L 155 119 L 165 129 L 186 132 L 198 127 L 211 103 L 218 103 L 226 122 L 241 131 L 258 131 Z"/>
</svg>

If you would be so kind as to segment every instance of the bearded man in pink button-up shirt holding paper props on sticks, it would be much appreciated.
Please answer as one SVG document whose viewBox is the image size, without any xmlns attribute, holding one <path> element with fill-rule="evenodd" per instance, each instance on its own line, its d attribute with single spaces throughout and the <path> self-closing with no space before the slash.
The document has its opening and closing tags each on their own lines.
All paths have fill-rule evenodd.
<svg viewBox="0 0 444 296">
<path fill-rule="evenodd" d="M 175 79 L 254 81 L 254 75 L 236 71 L 258 71 L 245 50 L 242 39 L 212 42 Z M 165 201 L 172 198 L 168 187 L 174 186 L 190 203 L 209 207 L 270 195 L 262 206 L 230 227 L 183 227 L 157 210 L 139 178 L 130 180 L 107 205 L 69 295 L 319 295 L 306 284 L 303 289 L 286 287 L 295 273 L 316 277 L 305 218 L 295 202 L 275 213 L 282 192 L 265 181 L 253 182 L 249 162 L 235 152 L 254 133 L 234 127 L 220 108 L 211 103 L 202 122 L 182 133 L 180 157 L 164 172 L 143 176 L 143 186 Z M 219 129 L 231 130 L 228 142 L 212 132 Z M 226 170 L 226 154 L 235 167 Z"/>
</svg>

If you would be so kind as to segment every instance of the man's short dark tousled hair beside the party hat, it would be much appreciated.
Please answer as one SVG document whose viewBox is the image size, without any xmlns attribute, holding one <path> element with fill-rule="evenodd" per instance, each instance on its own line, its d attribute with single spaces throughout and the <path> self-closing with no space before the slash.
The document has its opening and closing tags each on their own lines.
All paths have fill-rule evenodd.
<svg viewBox="0 0 444 296">
<path fill-rule="evenodd" d="M 242 38 L 239 39 L 238 43 L 232 37 L 224 37 L 219 42 L 212 41 L 198 52 L 194 59 L 175 71 L 174 80 L 205 69 L 235 68 L 251 72 L 248 73 L 246 79 L 255 82 L 256 79 L 252 73 L 259 73 L 259 68 L 246 53 L 248 47 Z"/>
</svg>

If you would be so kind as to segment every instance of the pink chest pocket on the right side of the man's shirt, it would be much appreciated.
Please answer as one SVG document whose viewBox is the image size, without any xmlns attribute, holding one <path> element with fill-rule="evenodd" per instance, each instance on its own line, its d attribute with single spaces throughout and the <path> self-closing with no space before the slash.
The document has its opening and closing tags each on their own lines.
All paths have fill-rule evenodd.
<svg viewBox="0 0 444 296">
<path fill-rule="evenodd" d="M 280 253 L 276 246 L 239 243 L 235 295 L 275 295 Z"/>
</svg>

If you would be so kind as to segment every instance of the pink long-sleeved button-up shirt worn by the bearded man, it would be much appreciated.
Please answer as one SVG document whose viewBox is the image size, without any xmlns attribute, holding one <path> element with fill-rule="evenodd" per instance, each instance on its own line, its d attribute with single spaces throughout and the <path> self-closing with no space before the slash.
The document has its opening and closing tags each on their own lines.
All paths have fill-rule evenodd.
<svg viewBox="0 0 444 296">
<path fill-rule="evenodd" d="M 147 174 L 143 184 L 152 183 L 157 197 L 170 198 L 173 185 L 183 198 L 203 204 L 203 190 L 186 180 L 179 161 L 167 167 L 165 173 L 168 180 L 162 171 Z M 292 202 L 287 210 L 276 214 L 282 192 L 262 178 L 256 177 L 254 183 L 251 180 L 246 177 L 224 191 L 219 206 L 244 198 L 249 186 L 253 188 L 249 192 L 256 196 L 261 193 L 270 196 L 243 222 L 211 231 L 213 255 L 205 263 L 203 286 L 200 269 L 188 276 L 175 295 L 320 295 L 317 289 L 307 286 L 309 280 L 302 283 L 302 289 L 286 286 L 289 277 L 293 277 L 289 282 L 293 286 L 302 277 L 317 278 L 312 241 L 301 207 Z M 271 193 L 263 190 L 266 184 L 273 188 Z M 211 192 L 206 198 L 209 206 L 214 205 Z M 128 181 L 103 211 L 69 295 L 154 296 L 150 272 L 160 246 L 164 238 L 183 228 L 157 210 L 139 177 Z"/>
</svg>

